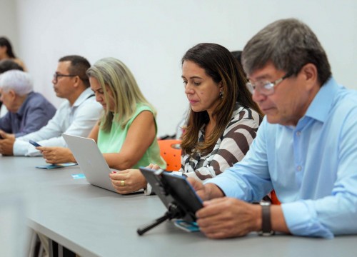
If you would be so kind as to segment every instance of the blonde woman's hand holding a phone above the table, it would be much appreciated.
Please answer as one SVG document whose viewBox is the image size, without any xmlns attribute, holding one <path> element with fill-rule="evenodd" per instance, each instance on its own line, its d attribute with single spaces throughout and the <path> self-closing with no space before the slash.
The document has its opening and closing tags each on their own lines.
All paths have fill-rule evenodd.
<svg viewBox="0 0 357 257">
<path fill-rule="evenodd" d="M 46 163 L 76 162 L 76 159 L 69 148 L 38 146 L 36 149 L 41 151 L 46 159 Z"/>
</svg>

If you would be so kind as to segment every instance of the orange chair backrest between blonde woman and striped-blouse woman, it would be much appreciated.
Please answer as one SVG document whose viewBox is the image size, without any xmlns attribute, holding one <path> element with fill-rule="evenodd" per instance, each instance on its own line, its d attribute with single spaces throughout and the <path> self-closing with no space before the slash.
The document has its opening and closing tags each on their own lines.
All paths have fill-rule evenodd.
<svg viewBox="0 0 357 257">
<path fill-rule="evenodd" d="M 181 140 L 158 140 L 160 155 L 166 161 L 166 171 L 178 171 L 181 168 Z"/>
</svg>

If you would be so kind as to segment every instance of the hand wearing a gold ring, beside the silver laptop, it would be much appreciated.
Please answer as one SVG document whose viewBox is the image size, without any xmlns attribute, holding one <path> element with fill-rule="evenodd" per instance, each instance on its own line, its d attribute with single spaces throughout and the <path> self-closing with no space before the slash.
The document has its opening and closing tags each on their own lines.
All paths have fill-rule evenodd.
<svg viewBox="0 0 357 257">
<path fill-rule="evenodd" d="M 125 171 L 113 171 L 109 174 L 111 184 L 118 193 L 133 193 L 139 189 L 146 188 L 146 179 L 139 169 L 128 169 Z"/>
</svg>

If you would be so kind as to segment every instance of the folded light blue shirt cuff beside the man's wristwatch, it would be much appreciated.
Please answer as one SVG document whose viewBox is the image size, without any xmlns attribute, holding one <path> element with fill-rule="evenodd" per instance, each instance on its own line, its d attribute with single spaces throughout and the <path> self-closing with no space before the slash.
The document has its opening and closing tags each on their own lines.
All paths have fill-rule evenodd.
<svg viewBox="0 0 357 257">
<path fill-rule="evenodd" d="M 333 238 L 333 233 L 318 221 L 313 201 L 296 201 L 281 204 L 286 226 L 296 236 Z"/>
</svg>

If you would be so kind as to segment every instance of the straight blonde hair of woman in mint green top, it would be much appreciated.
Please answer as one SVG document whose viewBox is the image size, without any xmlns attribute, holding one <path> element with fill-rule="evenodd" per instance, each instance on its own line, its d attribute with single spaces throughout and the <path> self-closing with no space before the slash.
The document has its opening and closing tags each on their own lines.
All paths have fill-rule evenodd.
<svg viewBox="0 0 357 257">
<path fill-rule="evenodd" d="M 154 106 L 141 93 L 133 74 L 118 59 L 111 57 L 100 59 L 86 71 L 86 74 L 98 80 L 101 89 L 104 91 L 106 103 L 109 103 L 107 89 L 111 91 L 114 98 L 114 111 L 106 109 L 101 118 L 101 129 L 104 129 L 104 131 L 110 131 L 114 114 L 117 114 L 117 121 L 120 121 L 124 128 L 134 116 L 137 104 L 149 106 L 156 116 Z"/>
</svg>

